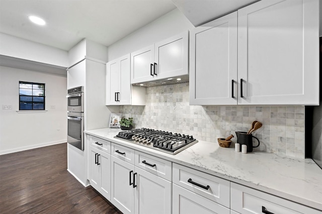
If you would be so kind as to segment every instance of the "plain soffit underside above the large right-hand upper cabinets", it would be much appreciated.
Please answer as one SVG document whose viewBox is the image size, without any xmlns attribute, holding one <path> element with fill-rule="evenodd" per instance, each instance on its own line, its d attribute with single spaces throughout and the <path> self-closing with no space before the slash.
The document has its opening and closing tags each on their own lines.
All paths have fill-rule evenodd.
<svg viewBox="0 0 322 214">
<path fill-rule="evenodd" d="M 258 1 L 260 0 L 172 0 L 195 27 Z"/>
</svg>

